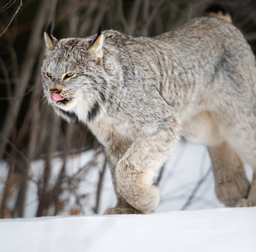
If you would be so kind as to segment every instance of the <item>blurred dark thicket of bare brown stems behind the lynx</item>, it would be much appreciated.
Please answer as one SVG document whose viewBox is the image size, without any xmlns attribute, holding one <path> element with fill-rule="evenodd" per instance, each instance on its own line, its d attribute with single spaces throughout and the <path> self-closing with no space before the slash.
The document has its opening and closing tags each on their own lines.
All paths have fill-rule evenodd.
<svg viewBox="0 0 256 252">
<path fill-rule="evenodd" d="M 96 33 L 105 11 L 103 28 L 135 36 L 154 36 L 204 15 L 209 0 L 1 0 L 0 1 L 0 218 L 24 216 L 29 184 L 37 192 L 35 216 L 78 215 L 86 194 L 78 183 L 90 169 L 97 170 L 95 206 L 106 160 L 101 146 L 84 125 L 67 124 L 42 100 L 40 76 L 44 57 L 43 32 L 53 20 L 53 35 L 85 37 Z M 256 52 L 256 1 L 214 1 L 227 8 L 233 23 Z M 7 28 L 7 29 L 6 29 Z M 88 162 L 70 173 L 70 157 L 90 152 Z M 61 165 L 55 169 L 52 160 Z M 32 163 L 43 169 L 35 176 Z M 52 180 L 52 175 L 55 179 Z M 69 203 L 66 192 L 76 195 Z M 65 197 L 64 197 L 65 198 Z M 67 198 L 67 197 L 66 197 Z"/>
</svg>

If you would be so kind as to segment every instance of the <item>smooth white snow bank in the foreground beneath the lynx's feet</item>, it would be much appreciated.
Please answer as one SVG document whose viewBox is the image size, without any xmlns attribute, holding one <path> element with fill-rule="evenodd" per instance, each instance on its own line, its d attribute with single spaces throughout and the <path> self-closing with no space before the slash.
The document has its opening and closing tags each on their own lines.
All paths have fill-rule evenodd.
<svg viewBox="0 0 256 252">
<path fill-rule="evenodd" d="M 5 219 L 1 252 L 255 252 L 256 208 Z"/>
</svg>

